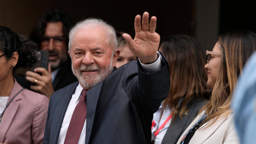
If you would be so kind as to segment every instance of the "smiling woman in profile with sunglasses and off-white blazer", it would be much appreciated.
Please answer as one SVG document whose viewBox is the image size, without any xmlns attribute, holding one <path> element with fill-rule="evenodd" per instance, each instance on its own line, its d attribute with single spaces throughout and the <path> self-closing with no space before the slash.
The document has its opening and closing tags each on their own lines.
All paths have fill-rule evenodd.
<svg viewBox="0 0 256 144">
<path fill-rule="evenodd" d="M 212 51 L 206 51 L 207 85 L 212 88 L 210 101 L 178 140 L 180 143 L 239 143 L 230 108 L 239 74 L 256 50 L 256 34 L 230 31 L 220 35 Z"/>
</svg>

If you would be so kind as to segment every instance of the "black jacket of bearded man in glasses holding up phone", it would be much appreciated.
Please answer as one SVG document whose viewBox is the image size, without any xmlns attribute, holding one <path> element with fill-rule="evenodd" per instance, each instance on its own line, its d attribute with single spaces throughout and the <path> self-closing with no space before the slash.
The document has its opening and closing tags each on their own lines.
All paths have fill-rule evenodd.
<svg viewBox="0 0 256 144">
<path fill-rule="evenodd" d="M 23 75 L 15 75 L 14 76 L 17 82 L 26 89 L 30 89 L 31 83 L 26 80 L 25 76 Z M 57 73 L 54 81 L 53 81 L 53 88 L 54 91 L 57 91 L 60 88 L 64 88 L 65 86 L 78 81 L 75 75 L 73 75 L 71 69 L 71 59 L 68 60 L 61 66 L 59 72 Z"/>
</svg>

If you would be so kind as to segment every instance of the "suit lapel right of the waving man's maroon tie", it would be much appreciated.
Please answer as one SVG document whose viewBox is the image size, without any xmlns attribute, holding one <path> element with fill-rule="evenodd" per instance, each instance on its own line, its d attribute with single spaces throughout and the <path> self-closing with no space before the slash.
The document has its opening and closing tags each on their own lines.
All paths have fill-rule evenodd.
<svg viewBox="0 0 256 144">
<path fill-rule="evenodd" d="M 91 130 L 93 126 L 95 111 L 99 99 L 99 94 L 101 91 L 101 87 L 104 81 L 99 83 L 97 86 L 91 88 L 86 92 L 86 101 L 87 101 L 87 115 L 86 115 L 86 138 L 85 143 L 89 143 L 89 139 L 91 136 Z"/>
</svg>

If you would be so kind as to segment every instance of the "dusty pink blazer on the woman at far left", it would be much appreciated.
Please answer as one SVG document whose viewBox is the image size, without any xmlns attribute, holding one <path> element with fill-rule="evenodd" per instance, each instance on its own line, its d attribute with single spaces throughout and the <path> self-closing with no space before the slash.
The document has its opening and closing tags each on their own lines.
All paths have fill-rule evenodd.
<svg viewBox="0 0 256 144">
<path fill-rule="evenodd" d="M 22 89 L 15 80 L 8 102 Z M 10 103 L 0 123 L 0 143 L 42 144 L 49 100 L 24 89 Z"/>
</svg>

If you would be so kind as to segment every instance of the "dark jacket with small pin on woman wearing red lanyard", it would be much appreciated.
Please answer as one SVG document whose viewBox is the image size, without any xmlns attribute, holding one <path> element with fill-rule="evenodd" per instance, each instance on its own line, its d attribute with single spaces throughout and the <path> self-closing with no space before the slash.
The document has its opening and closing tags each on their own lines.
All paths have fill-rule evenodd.
<svg viewBox="0 0 256 144">
<path fill-rule="evenodd" d="M 176 117 L 174 123 L 168 127 L 162 144 L 176 144 L 181 134 L 191 124 L 192 120 L 197 116 L 198 110 L 203 107 L 205 102 L 205 99 L 192 99 L 186 107 L 189 110 L 187 115 L 183 115 L 182 119 L 179 116 Z"/>
</svg>

